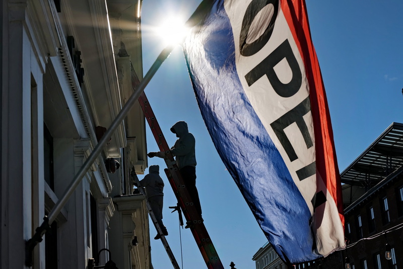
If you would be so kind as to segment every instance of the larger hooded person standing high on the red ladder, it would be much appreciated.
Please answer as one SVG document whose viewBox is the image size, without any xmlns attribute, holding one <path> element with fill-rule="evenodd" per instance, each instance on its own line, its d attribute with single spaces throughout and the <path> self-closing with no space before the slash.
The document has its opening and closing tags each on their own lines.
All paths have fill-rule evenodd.
<svg viewBox="0 0 403 269">
<path fill-rule="evenodd" d="M 192 198 L 195 209 L 200 214 L 201 218 L 201 206 L 196 188 L 196 155 L 195 155 L 195 139 L 192 133 L 187 128 L 185 121 L 178 121 L 172 127 L 171 131 L 176 134 L 178 140 L 171 148 L 171 153 L 175 157 L 176 164 L 178 165 L 182 179 L 185 186 Z M 150 158 L 160 157 L 165 158 L 164 152 L 150 152 L 148 154 Z M 191 221 L 186 222 L 185 228 L 191 227 Z"/>
</svg>

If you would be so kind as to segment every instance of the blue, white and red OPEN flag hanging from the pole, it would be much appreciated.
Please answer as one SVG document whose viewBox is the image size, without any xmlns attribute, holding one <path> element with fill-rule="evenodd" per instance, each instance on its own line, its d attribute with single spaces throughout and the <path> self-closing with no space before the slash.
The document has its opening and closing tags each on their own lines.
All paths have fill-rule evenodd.
<svg viewBox="0 0 403 269">
<path fill-rule="evenodd" d="M 345 247 L 343 199 L 302 0 L 217 0 L 184 53 L 215 147 L 287 263 Z"/>
</svg>

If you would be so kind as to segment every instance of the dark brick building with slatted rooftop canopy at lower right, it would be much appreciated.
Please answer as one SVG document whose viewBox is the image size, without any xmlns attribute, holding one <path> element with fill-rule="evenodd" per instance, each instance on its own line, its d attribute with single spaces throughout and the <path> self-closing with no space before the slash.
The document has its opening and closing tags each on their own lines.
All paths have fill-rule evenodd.
<svg viewBox="0 0 403 269">
<path fill-rule="evenodd" d="M 403 268 L 402 164 L 403 124 L 393 122 L 341 173 L 347 249 L 295 267 Z M 386 250 L 390 259 L 385 258 Z M 276 268 L 272 265 L 277 260 L 261 266 L 264 254 L 259 251 L 254 255 L 256 269 Z"/>
</svg>

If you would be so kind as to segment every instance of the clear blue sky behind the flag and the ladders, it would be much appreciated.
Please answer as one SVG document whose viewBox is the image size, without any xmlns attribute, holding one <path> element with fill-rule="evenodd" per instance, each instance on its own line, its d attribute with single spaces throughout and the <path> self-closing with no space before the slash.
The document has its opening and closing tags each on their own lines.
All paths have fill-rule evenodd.
<svg viewBox="0 0 403 269">
<path fill-rule="evenodd" d="M 144 73 L 163 49 L 151 33 L 169 15 L 186 20 L 200 0 L 144 0 L 142 9 Z M 393 121 L 403 122 L 403 1 L 306 1 L 313 44 L 318 55 L 330 110 L 339 169 L 343 171 Z M 267 242 L 230 174 L 223 165 L 201 118 L 181 47 L 162 64 L 146 87 L 165 138 L 178 120 L 196 138 L 196 185 L 203 218 L 225 268 L 255 268 L 253 254 Z M 147 125 L 148 151 L 158 151 Z M 149 159 L 149 165 L 165 163 Z M 148 172 L 148 170 L 146 170 Z M 166 179 L 163 172 L 161 173 Z M 140 179 L 142 176 L 140 176 Z M 181 265 L 178 215 L 168 206 L 176 199 L 166 180 L 164 224 L 167 240 Z M 152 237 L 156 232 L 150 228 Z M 206 268 L 190 230 L 180 229 L 183 269 Z M 152 240 L 155 269 L 172 266 L 160 240 Z"/>
</svg>

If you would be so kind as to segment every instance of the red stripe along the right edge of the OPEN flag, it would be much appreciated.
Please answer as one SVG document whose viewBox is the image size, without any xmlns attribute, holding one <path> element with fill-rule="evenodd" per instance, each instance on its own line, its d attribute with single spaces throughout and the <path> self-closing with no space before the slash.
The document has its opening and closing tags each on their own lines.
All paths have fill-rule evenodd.
<svg viewBox="0 0 403 269">
<path fill-rule="evenodd" d="M 343 196 L 333 142 L 333 131 L 319 62 L 312 44 L 305 1 L 281 0 L 281 9 L 304 62 L 309 83 L 309 96 L 315 132 L 316 169 L 337 204 L 340 220 L 344 227 Z"/>
</svg>

